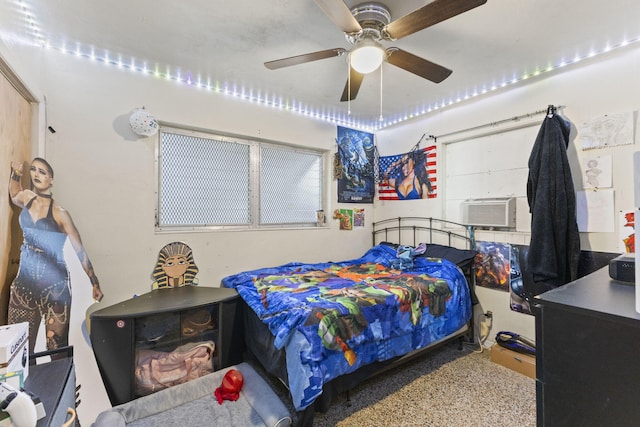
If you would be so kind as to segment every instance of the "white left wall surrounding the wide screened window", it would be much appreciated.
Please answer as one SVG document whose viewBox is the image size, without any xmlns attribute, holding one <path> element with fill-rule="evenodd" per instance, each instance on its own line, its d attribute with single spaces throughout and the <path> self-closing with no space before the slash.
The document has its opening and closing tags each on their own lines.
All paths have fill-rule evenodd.
<svg viewBox="0 0 640 427">
<path fill-rule="evenodd" d="M 150 291 L 151 272 L 166 243 L 189 244 L 201 286 L 219 286 L 226 275 L 291 261 L 351 259 L 370 247 L 372 206 L 357 204 L 348 207 L 365 208 L 369 216 L 366 227 L 353 231 L 339 230 L 339 224 L 328 218 L 323 228 L 155 232 L 155 139 L 136 137 L 128 116 L 134 108 L 145 106 L 160 121 L 325 149 L 331 154 L 335 125 L 58 52 L 0 44 L 0 55 L 11 60 L 45 104 L 42 126 L 56 132 L 43 132 L 46 140 L 34 143 L 42 146 L 34 154 L 53 165 L 54 199 L 71 213 L 105 294 L 101 303 L 91 305 L 90 284 L 79 263 L 69 260 L 74 294 L 70 342 L 82 385 L 78 413 L 83 423 L 91 423 L 110 407 L 82 327 L 85 312 Z M 329 165 L 332 159 L 327 157 Z M 335 181 L 329 177 L 327 184 L 330 213 L 340 205 Z M 286 188 L 283 192 L 286 197 Z"/>
</svg>

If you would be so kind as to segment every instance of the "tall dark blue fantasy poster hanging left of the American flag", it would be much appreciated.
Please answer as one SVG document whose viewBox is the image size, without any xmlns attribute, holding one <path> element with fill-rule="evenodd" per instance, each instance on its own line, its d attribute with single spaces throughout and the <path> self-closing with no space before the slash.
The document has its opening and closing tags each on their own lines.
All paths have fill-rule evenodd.
<svg viewBox="0 0 640 427">
<path fill-rule="evenodd" d="M 374 144 L 373 134 L 338 126 L 339 203 L 373 203 Z"/>
</svg>

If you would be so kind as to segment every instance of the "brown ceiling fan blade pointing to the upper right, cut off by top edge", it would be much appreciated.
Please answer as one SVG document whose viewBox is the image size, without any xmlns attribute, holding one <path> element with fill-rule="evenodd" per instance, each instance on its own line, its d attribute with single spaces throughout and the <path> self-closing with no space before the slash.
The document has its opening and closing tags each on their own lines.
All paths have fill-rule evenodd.
<svg viewBox="0 0 640 427">
<path fill-rule="evenodd" d="M 487 0 L 434 0 L 391 22 L 384 28 L 393 40 L 406 37 L 463 12 L 482 6 Z"/>
</svg>

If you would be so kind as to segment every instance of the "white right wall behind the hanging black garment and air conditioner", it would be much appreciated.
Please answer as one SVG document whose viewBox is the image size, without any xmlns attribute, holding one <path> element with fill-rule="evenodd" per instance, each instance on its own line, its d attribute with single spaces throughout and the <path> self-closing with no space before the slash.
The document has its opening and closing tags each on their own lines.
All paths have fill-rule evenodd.
<svg viewBox="0 0 640 427">
<path fill-rule="evenodd" d="M 572 143 L 567 150 L 576 190 L 582 190 L 582 164 L 585 156 L 594 154 L 613 157 L 613 188 L 615 190 L 615 212 L 633 209 L 633 162 L 632 153 L 636 145 L 613 147 L 595 151 L 581 151 L 577 140 L 577 129 L 591 118 L 605 114 L 638 111 L 640 109 L 640 49 L 628 48 L 597 59 L 584 61 L 561 72 L 529 82 L 527 86 L 511 90 L 498 90 L 471 102 L 443 109 L 421 120 L 405 123 L 396 128 L 376 134 L 376 143 L 381 155 L 398 154 L 410 149 L 423 134 L 445 135 L 476 126 L 495 123 L 503 119 L 544 110 L 549 104 L 563 105 L 562 116 L 572 123 Z M 453 77 L 453 76 L 452 76 Z M 637 117 L 637 113 L 634 118 Z M 536 120 L 541 121 L 543 116 Z M 523 120 L 526 122 L 527 120 Z M 531 121 L 535 121 L 531 119 Z M 504 129 L 509 125 L 503 126 Z M 376 202 L 375 221 L 399 215 L 429 215 L 454 217 L 459 220 L 459 210 L 449 206 L 455 199 L 514 196 L 517 199 L 517 231 L 479 232 L 477 240 L 528 245 L 530 241 L 531 216 L 526 199 L 527 162 L 539 125 L 518 130 L 505 131 L 488 137 L 477 137 L 481 133 L 500 129 L 484 128 L 461 135 L 438 139 L 438 183 L 439 196 L 435 200 L 408 202 Z M 465 142 L 446 146 L 448 141 L 469 137 Z M 636 126 L 635 140 L 638 140 Z M 458 144 L 463 146 L 462 149 Z M 449 149 L 450 148 L 450 149 Z M 456 152 L 455 157 L 447 153 Z M 489 158 L 486 153 L 492 153 Z M 498 158 L 501 164 L 495 160 Z M 466 185 L 447 187 L 448 170 L 444 167 L 453 162 L 460 169 L 477 171 L 485 167 L 478 176 L 482 187 L 465 182 Z M 491 169 L 494 170 L 491 170 Z M 509 170 L 510 174 L 496 173 L 495 168 Z M 506 178 L 505 178 L 506 177 Z M 504 180 L 509 180 L 504 182 Z M 464 180 L 461 180 L 464 181 Z M 442 197 L 441 197 L 442 196 Z M 618 215 L 612 233 L 581 233 L 583 250 L 621 252 L 618 234 Z M 493 328 L 487 344 L 493 342 L 495 333 L 508 330 L 535 337 L 533 316 L 511 311 L 506 292 L 477 288 L 479 310 L 493 312 Z"/>
</svg>

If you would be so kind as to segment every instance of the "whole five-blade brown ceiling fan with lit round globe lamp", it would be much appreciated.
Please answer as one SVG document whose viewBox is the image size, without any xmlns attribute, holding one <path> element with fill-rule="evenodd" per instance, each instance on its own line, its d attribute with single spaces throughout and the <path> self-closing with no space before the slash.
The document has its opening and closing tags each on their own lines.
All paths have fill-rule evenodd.
<svg viewBox="0 0 640 427">
<path fill-rule="evenodd" d="M 364 75 L 383 61 L 419 77 L 440 83 L 452 70 L 397 47 L 384 49 L 381 41 L 395 41 L 446 19 L 481 6 L 487 0 L 434 0 L 391 22 L 391 13 L 382 3 L 368 2 L 349 9 L 343 0 L 315 0 L 316 4 L 344 32 L 351 50 L 334 48 L 265 62 L 270 70 L 349 54 L 349 77 L 340 101 L 353 100 Z"/>
</svg>

